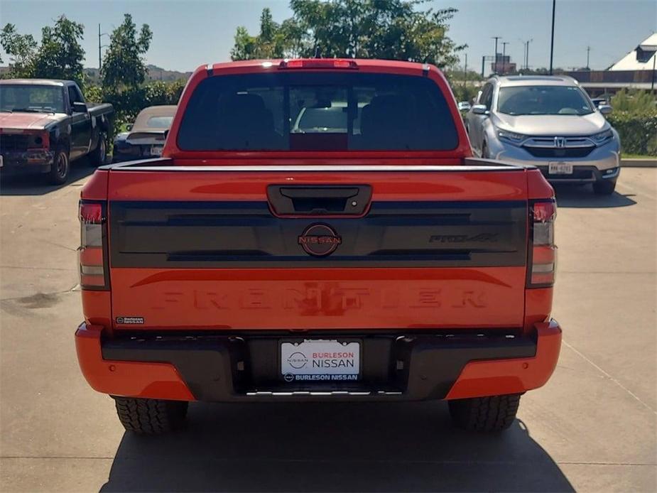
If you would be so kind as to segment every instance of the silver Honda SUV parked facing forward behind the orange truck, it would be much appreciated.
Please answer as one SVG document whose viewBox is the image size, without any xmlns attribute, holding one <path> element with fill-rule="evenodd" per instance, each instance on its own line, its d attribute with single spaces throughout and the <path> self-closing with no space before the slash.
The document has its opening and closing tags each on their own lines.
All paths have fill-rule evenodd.
<svg viewBox="0 0 657 493">
<path fill-rule="evenodd" d="M 568 76 L 492 77 L 466 116 L 474 153 L 538 166 L 550 182 L 614 192 L 620 141 L 604 114 Z"/>
</svg>

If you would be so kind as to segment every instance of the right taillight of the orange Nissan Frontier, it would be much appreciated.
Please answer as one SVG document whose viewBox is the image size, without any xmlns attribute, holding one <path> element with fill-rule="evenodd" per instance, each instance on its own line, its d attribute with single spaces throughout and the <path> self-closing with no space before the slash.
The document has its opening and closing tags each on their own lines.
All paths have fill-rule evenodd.
<svg viewBox="0 0 657 493">
<path fill-rule="evenodd" d="M 554 244 L 554 221 L 557 205 L 554 200 L 530 203 L 531 244 L 527 269 L 527 287 L 553 286 L 557 269 L 557 247 Z"/>
</svg>

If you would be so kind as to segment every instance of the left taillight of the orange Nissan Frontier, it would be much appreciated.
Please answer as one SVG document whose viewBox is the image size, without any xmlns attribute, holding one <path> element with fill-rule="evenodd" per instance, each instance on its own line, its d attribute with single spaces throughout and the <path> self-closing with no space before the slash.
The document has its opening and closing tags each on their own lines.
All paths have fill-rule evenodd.
<svg viewBox="0 0 657 493">
<path fill-rule="evenodd" d="M 80 200 L 80 287 L 109 289 L 107 272 L 107 214 L 105 202 Z"/>
</svg>

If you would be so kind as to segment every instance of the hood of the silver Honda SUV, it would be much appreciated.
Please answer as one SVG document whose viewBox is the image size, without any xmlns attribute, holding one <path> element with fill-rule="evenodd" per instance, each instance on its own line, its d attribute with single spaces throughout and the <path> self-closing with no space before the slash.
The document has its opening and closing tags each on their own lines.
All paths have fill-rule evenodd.
<svg viewBox="0 0 657 493">
<path fill-rule="evenodd" d="M 531 136 L 585 136 L 597 134 L 609 128 L 609 123 L 599 112 L 575 114 L 527 114 L 510 115 L 496 113 L 493 123 L 501 129 Z"/>
</svg>

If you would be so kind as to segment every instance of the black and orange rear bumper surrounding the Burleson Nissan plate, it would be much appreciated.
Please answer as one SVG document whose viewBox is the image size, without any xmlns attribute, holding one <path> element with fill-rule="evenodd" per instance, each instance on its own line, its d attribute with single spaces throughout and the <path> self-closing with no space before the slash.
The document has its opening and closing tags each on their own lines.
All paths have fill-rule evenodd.
<svg viewBox="0 0 657 493">
<path fill-rule="evenodd" d="M 362 340 L 359 384 L 301 388 L 278 375 L 281 335 L 159 335 L 105 339 L 101 327 L 80 325 L 75 341 L 82 374 L 99 392 L 150 399 L 465 399 L 542 386 L 561 345 L 555 321 L 536 324 L 532 335 L 514 337 L 360 332 L 349 334 Z"/>
</svg>

